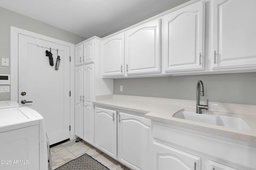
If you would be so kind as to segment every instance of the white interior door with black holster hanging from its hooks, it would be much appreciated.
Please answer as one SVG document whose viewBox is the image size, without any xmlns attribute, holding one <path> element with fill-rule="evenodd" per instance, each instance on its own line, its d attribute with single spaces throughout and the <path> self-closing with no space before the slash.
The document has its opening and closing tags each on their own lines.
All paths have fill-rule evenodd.
<svg viewBox="0 0 256 170">
<path fill-rule="evenodd" d="M 52 48 L 54 66 L 46 50 Z M 60 65 L 55 70 L 57 51 Z M 70 47 L 19 34 L 18 102 L 38 111 L 45 121 L 50 145 L 69 139 Z M 26 95 L 22 96 L 22 92 Z M 22 104 L 21 101 L 32 101 Z"/>
</svg>

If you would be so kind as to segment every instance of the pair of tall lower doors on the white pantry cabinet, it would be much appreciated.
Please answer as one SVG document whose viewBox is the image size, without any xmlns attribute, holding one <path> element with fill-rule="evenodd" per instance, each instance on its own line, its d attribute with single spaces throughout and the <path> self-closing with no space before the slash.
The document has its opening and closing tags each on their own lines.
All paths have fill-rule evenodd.
<svg viewBox="0 0 256 170">
<path fill-rule="evenodd" d="M 93 145 L 94 64 L 76 66 L 75 135 Z"/>
</svg>

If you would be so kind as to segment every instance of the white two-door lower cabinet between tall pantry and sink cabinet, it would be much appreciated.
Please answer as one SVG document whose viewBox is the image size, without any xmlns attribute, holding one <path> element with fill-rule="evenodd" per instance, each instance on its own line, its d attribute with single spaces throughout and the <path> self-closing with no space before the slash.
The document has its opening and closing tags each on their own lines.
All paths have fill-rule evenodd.
<svg viewBox="0 0 256 170">
<path fill-rule="evenodd" d="M 148 170 L 150 124 L 141 113 L 95 106 L 94 146 L 132 170 Z"/>
</svg>

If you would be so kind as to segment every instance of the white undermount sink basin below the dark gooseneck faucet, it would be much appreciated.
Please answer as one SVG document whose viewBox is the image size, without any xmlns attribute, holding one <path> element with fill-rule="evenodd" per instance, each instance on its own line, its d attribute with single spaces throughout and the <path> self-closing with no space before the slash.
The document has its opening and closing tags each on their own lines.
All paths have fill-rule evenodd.
<svg viewBox="0 0 256 170">
<path fill-rule="evenodd" d="M 243 119 L 241 119 L 240 117 L 214 115 L 214 114 L 206 114 L 206 113 L 198 114 L 194 111 L 185 111 L 185 110 L 178 111 L 172 117 L 192 120 L 192 121 L 199 121 L 202 123 L 209 123 L 212 125 L 232 127 L 232 128 L 242 129 L 246 131 L 251 130 L 248 123 Z"/>
</svg>

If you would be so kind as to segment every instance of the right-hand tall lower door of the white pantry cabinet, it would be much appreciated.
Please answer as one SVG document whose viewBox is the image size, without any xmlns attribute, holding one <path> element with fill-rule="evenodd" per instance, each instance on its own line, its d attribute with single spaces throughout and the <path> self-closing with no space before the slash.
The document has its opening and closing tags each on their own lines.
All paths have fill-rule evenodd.
<svg viewBox="0 0 256 170">
<path fill-rule="evenodd" d="M 93 144 L 94 142 L 94 110 L 93 110 L 93 96 L 94 96 L 94 73 L 93 64 L 84 66 L 83 73 L 84 80 L 84 141 Z"/>
</svg>

